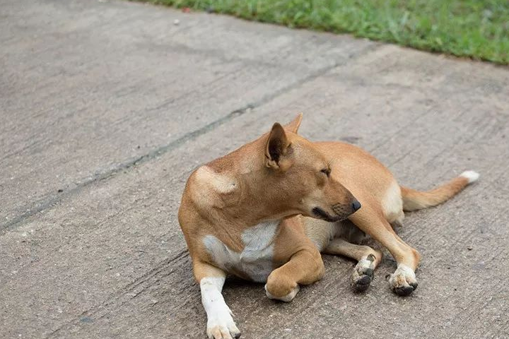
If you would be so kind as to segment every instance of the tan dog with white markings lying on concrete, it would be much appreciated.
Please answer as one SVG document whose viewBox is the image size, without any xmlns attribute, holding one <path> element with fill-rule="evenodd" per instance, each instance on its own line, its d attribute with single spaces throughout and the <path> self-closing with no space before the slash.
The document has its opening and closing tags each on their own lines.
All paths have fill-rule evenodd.
<svg viewBox="0 0 509 339">
<path fill-rule="evenodd" d="M 197 168 L 187 180 L 178 220 L 207 314 L 209 338 L 239 338 L 221 295 L 227 274 L 265 283 L 267 297 L 290 302 L 300 285 L 324 275 L 320 253 L 357 261 L 354 290 L 373 279 L 382 252 L 354 244 L 368 234 L 397 261 L 397 295 L 417 287 L 421 256 L 392 229 L 404 210 L 436 206 L 475 182 L 467 171 L 431 191 L 400 186 L 355 145 L 313 143 L 298 135 L 302 114 L 286 126 Z"/>
</svg>

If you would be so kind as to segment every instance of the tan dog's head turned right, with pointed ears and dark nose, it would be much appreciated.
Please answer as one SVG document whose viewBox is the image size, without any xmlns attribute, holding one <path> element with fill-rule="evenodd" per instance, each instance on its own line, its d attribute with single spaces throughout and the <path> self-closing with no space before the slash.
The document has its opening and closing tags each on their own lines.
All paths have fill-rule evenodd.
<svg viewBox="0 0 509 339">
<path fill-rule="evenodd" d="M 266 138 L 267 194 L 279 208 L 327 221 L 346 219 L 361 208 L 335 179 L 332 159 L 297 134 L 302 114 L 290 124 L 276 123 Z"/>
</svg>

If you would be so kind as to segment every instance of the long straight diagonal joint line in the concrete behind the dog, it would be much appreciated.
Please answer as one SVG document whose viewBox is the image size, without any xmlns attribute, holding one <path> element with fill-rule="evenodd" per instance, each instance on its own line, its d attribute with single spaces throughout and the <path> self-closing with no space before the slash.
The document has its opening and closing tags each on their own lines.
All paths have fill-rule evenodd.
<svg viewBox="0 0 509 339">
<path fill-rule="evenodd" d="M 42 212 L 43 210 L 47 210 L 49 208 L 52 208 L 53 206 L 57 205 L 60 201 L 62 201 L 64 198 L 72 196 L 74 194 L 77 194 L 81 189 L 84 187 L 93 184 L 95 182 L 100 182 L 102 180 L 107 180 L 113 177 L 117 172 L 120 172 L 122 170 L 129 169 L 131 167 L 134 167 L 136 165 L 144 164 L 145 162 L 148 162 L 150 160 L 155 159 L 156 157 L 159 157 L 160 155 L 163 155 L 165 153 L 168 153 L 172 150 L 175 150 L 176 148 L 180 147 L 180 145 L 186 143 L 187 141 L 194 140 L 195 138 L 198 138 L 201 135 L 204 135 L 205 133 L 208 133 L 209 131 L 213 131 L 213 129 L 216 129 L 217 127 L 228 123 L 229 121 L 235 119 L 236 117 L 240 117 L 241 115 L 245 114 L 246 112 L 249 112 L 251 109 L 255 109 L 257 107 L 261 107 L 262 105 L 267 104 L 268 102 L 271 102 L 271 100 L 274 100 L 276 97 L 279 97 L 280 95 L 283 95 L 284 93 L 288 93 L 291 90 L 298 88 L 299 86 L 308 83 L 309 81 L 314 80 L 315 78 L 318 78 L 320 76 L 323 76 L 324 74 L 328 73 L 332 69 L 337 68 L 338 66 L 342 66 L 346 64 L 347 61 L 355 58 L 355 57 L 361 57 L 365 54 L 369 54 L 370 52 L 375 51 L 375 49 L 378 49 L 382 47 L 382 44 L 369 44 L 368 47 L 365 47 L 364 49 L 361 49 L 361 51 L 349 55 L 344 60 L 341 61 L 334 61 L 333 64 L 329 66 L 324 66 L 321 69 L 318 69 L 315 72 L 310 73 L 310 75 L 305 76 L 304 78 L 301 78 L 300 80 L 291 83 L 290 85 L 280 88 L 279 90 L 274 91 L 274 93 L 271 93 L 269 95 L 265 95 L 261 99 L 252 102 L 250 104 L 245 105 L 244 107 L 240 107 L 239 109 L 235 109 L 234 111 L 230 112 L 224 117 L 221 117 L 219 119 L 216 119 L 215 121 L 212 121 L 209 124 L 206 124 L 205 126 L 202 126 L 199 129 L 196 129 L 194 131 L 191 131 L 189 133 L 184 134 L 180 138 L 177 138 L 174 141 L 170 141 L 170 143 L 167 143 L 166 145 L 160 146 L 154 150 L 151 150 L 151 152 L 148 152 L 144 155 L 140 155 L 139 157 L 131 158 L 130 160 L 127 160 L 125 162 L 121 162 L 119 165 L 107 169 L 104 172 L 99 172 L 94 174 L 89 179 L 84 180 L 80 184 L 76 185 L 72 189 L 69 189 L 68 191 L 64 191 L 58 196 L 52 195 L 48 198 L 42 198 L 39 202 L 35 203 L 35 208 L 28 209 L 25 213 L 18 215 L 16 218 L 13 218 L 9 220 L 8 222 L 4 223 L 4 225 L 0 226 L 0 236 L 6 234 L 9 230 L 13 230 L 16 227 L 20 226 L 23 221 L 26 219 L 32 217 L 33 215 Z"/>
</svg>

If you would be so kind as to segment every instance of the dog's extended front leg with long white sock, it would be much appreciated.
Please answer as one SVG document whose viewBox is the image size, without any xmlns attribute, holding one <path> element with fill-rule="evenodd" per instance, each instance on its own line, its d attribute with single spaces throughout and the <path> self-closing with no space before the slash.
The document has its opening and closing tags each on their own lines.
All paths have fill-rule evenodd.
<svg viewBox="0 0 509 339">
<path fill-rule="evenodd" d="M 207 314 L 207 335 L 213 339 L 240 338 L 230 307 L 221 291 L 226 273 L 207 263 L 194 264 L 194 275 L 200 284 L 201 302 Z"/>
</svg>

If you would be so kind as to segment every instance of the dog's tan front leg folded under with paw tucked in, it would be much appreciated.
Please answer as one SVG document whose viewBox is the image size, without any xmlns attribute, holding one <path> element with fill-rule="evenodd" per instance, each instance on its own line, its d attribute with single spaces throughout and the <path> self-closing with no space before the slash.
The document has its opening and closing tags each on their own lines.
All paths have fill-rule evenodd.
<svg viewBox="0 0 509 339">
<path fill-rule="evenodd" d="M 265 284 L 267 297 L 291 302 L 300 289 L 299 284 L 315 283 L 322 278 L 324 270 L 322 256 L 316 247 L 300 250 L 269 275 Z"/>
</svg>

